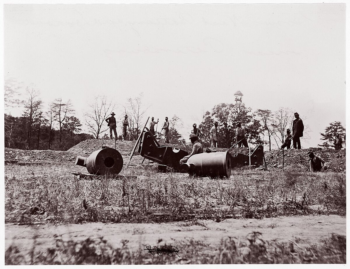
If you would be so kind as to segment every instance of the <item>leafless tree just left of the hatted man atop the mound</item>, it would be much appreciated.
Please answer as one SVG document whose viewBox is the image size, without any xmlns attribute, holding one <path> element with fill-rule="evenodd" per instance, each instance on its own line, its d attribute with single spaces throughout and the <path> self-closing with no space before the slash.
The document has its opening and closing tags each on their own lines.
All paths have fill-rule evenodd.
<svg viewBox="0 0 350 269">
<path fill-rule="evenodd" d="M 90 133 L 92 133 L 96 139 L 100 133 L 105 132 L 107 129 L 102 128 L 104 120 L 114 109 L 112 101 L 107 101 L 106 96 L 96 96 L 94 101 L 89 105 L 90 109 L 84 112 L 84 118 Z"/>
</svg>

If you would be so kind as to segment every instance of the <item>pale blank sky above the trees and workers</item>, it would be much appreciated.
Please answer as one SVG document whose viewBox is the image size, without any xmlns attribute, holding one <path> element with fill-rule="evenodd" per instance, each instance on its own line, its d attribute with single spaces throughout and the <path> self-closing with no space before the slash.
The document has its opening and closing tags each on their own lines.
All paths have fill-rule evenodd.
<svg viewBox="0 0 350 269">
<path fill-rule="evenodd" d="M 299 112 L 302 147 L 317 146 L 330 122 L 345 127 L 345 5 L 5 5 L 4 73 L 46 104 L 71 99 L 82 122 L 96 94 L 123 113 L 144 92 L 148 116 L 176 114 L 186 138 L 240 90 L 253 110 Z"/>
</svg>

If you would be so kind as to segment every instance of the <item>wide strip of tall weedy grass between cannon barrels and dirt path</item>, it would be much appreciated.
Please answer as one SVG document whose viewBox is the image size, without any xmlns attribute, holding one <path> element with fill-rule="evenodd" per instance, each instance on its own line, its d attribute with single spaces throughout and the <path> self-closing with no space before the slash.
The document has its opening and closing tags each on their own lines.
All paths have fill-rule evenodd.
<svg viewBox="0 0 350 269">
<path fill-rule="evenodd" d="M 131 168 L 127 174 L 137 179 L 79 180 L 67 171 L 65 166 L 6 167 L 5 221 L 221 221 L 344 215 L 346 207 L 345 179 L 336 174 L 242 170 L 233 171 L 230 179 L 208 179 Z"/>
</svg>

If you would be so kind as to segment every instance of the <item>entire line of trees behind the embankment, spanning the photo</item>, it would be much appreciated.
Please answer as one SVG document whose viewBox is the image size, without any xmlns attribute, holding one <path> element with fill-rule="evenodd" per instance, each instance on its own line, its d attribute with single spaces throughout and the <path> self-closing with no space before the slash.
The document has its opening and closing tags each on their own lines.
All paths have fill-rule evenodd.
<svg viewBox="0 0 350 269">
<path fill-rule="evenodd" d="M 118 138 L 121 139 L 121 121 L 125 114 L 129 116 L 129 127 L 127 129 L 127 140 L 136 140 L 140 129 L 145 122 L 146 111 L 142 103 L 143 94 L 130 97 L 117 105 L 111 98 L 97 95 L 91 102 L 86 104 L 84 124 L 87 133 L 81 133 L 82 122 L 75 117 L 75 111 L 70 100 L 63 101 L 62 98 L 55 99 L 44 108 L 40 93 L 33 85 L 26 87 L 26 93 L 22 97 L 21 83 L 16 80 L 5 80 L 4 97 L 5 109 L 19 107 L 22 109 L 21 117 L 13 117 L 5 114 L 5 146 L 18 149 L 50 149 L 67 150 L 73 145 L 89 138 L 105 138 L 109 136 L 109 130 L 105 119 L 112 111 L 116 112 Z M 21 98 L 22 97 L 22 98 Z M 115 109 L 118 107 L 118 109 Z M 278 148 L 283 144 L 286 131 L 292 132 L 294 112 L 289 108 L 279 108 L 276 111 L 258 109 L 253 111 L 242 102 L 217 104 L 210 111 L 203 113 L 202 119 L 198 120 L 197 126 L 202 131 L 202 144 L 210 146 L 210 129 L 215 121 L 218 121 L 218 147 L 229 148 L 236 143 L 236 122 L 248 128 L 247 140 L 252 145 L 267 145 L 271 150 L 275 145 Z M 303 120 L 304 118 L 301 117 Z M 200 122 L 202 120 L 202 122 Z M 184 125 L 183 121 L 174 115 L 169 118 L 169 142 L 179 143 L 183 136 L 177 131 Z M 159 121 L 156 133 L 161 133 L 162 119 Z M 119 127 L 118 127 L 119 126 Z M 308 133 L 308 125 L 304 121 L 304 139 Z M 147 124 L 148 127 L 148 124 Z M 189 130 L 190 131 L 190 130 Z M 108 131 L 107 131 L 108 132 Z M 108 132 L 109 133 L 109 132 Z M 162 133 L 163 134 L 163 133 Z M 345 129 L 340 122 L 330 123 L 321 133 L 323 144 L 319 146 L 334 147 L 337 135 L 343 136 Z M 187 137 L 185 137 L 186 140 Z M 345 139 L 344 139 L 345 140 Z"/>
</svg>

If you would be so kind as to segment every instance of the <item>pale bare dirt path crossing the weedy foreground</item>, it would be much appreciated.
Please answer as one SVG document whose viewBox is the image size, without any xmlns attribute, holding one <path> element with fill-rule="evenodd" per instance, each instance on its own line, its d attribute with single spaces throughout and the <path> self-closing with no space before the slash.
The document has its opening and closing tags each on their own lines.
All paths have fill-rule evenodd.
<svg viewBox="0 0 350 269">
<path fill-rule="evenodd" d="M 278 242 L 292 240 L 299 245 L 317 244 L 331 233 L 346 235 L 346 218 L 338 215 L 292 216 L 262 220 L 226 219 L 219 223 L 205 220 L 199 223 L 201 225 L 191 225 L 188 222 L 86 223 L 57 226 L 6 224 L 5 249 L 14 244 L 20 247 L 21 251 L 27 252 L 33 246 L 35 236 L 37 236 L 36 248 L 54 247 L 55 234 L 61 235 L 63 240 L 74 241 L 103 236 L 114 247 L 119 247 L 121 240 L 128 240 L 128 246 L 135 250 L 147 245 L 158 246 L 159 239 L 163 240 L 161 244 L 193 239 L 216 248 L 223 237 L 243 239 L 253 231 L 261 232 L 264 240 Z"/>
</svg>

